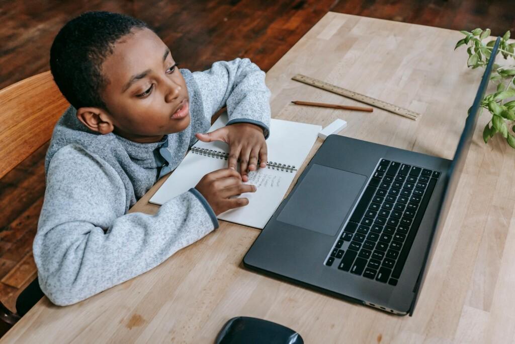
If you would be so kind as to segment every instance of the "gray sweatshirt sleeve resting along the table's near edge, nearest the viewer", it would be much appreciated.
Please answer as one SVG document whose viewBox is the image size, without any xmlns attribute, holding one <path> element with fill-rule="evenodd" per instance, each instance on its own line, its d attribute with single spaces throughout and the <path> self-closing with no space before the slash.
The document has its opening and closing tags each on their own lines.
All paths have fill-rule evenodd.
<svg viewBox="0 0 515 344">
<path fill-rule="evenodd" d="M 57 305 L 70 305 L 158 266 L 218 226 L 195 189 L 156 215 L 125 214 L 116 171 L 78 146 L 50 161 L 33 243 L 39 283 Z"/>
</svg>

